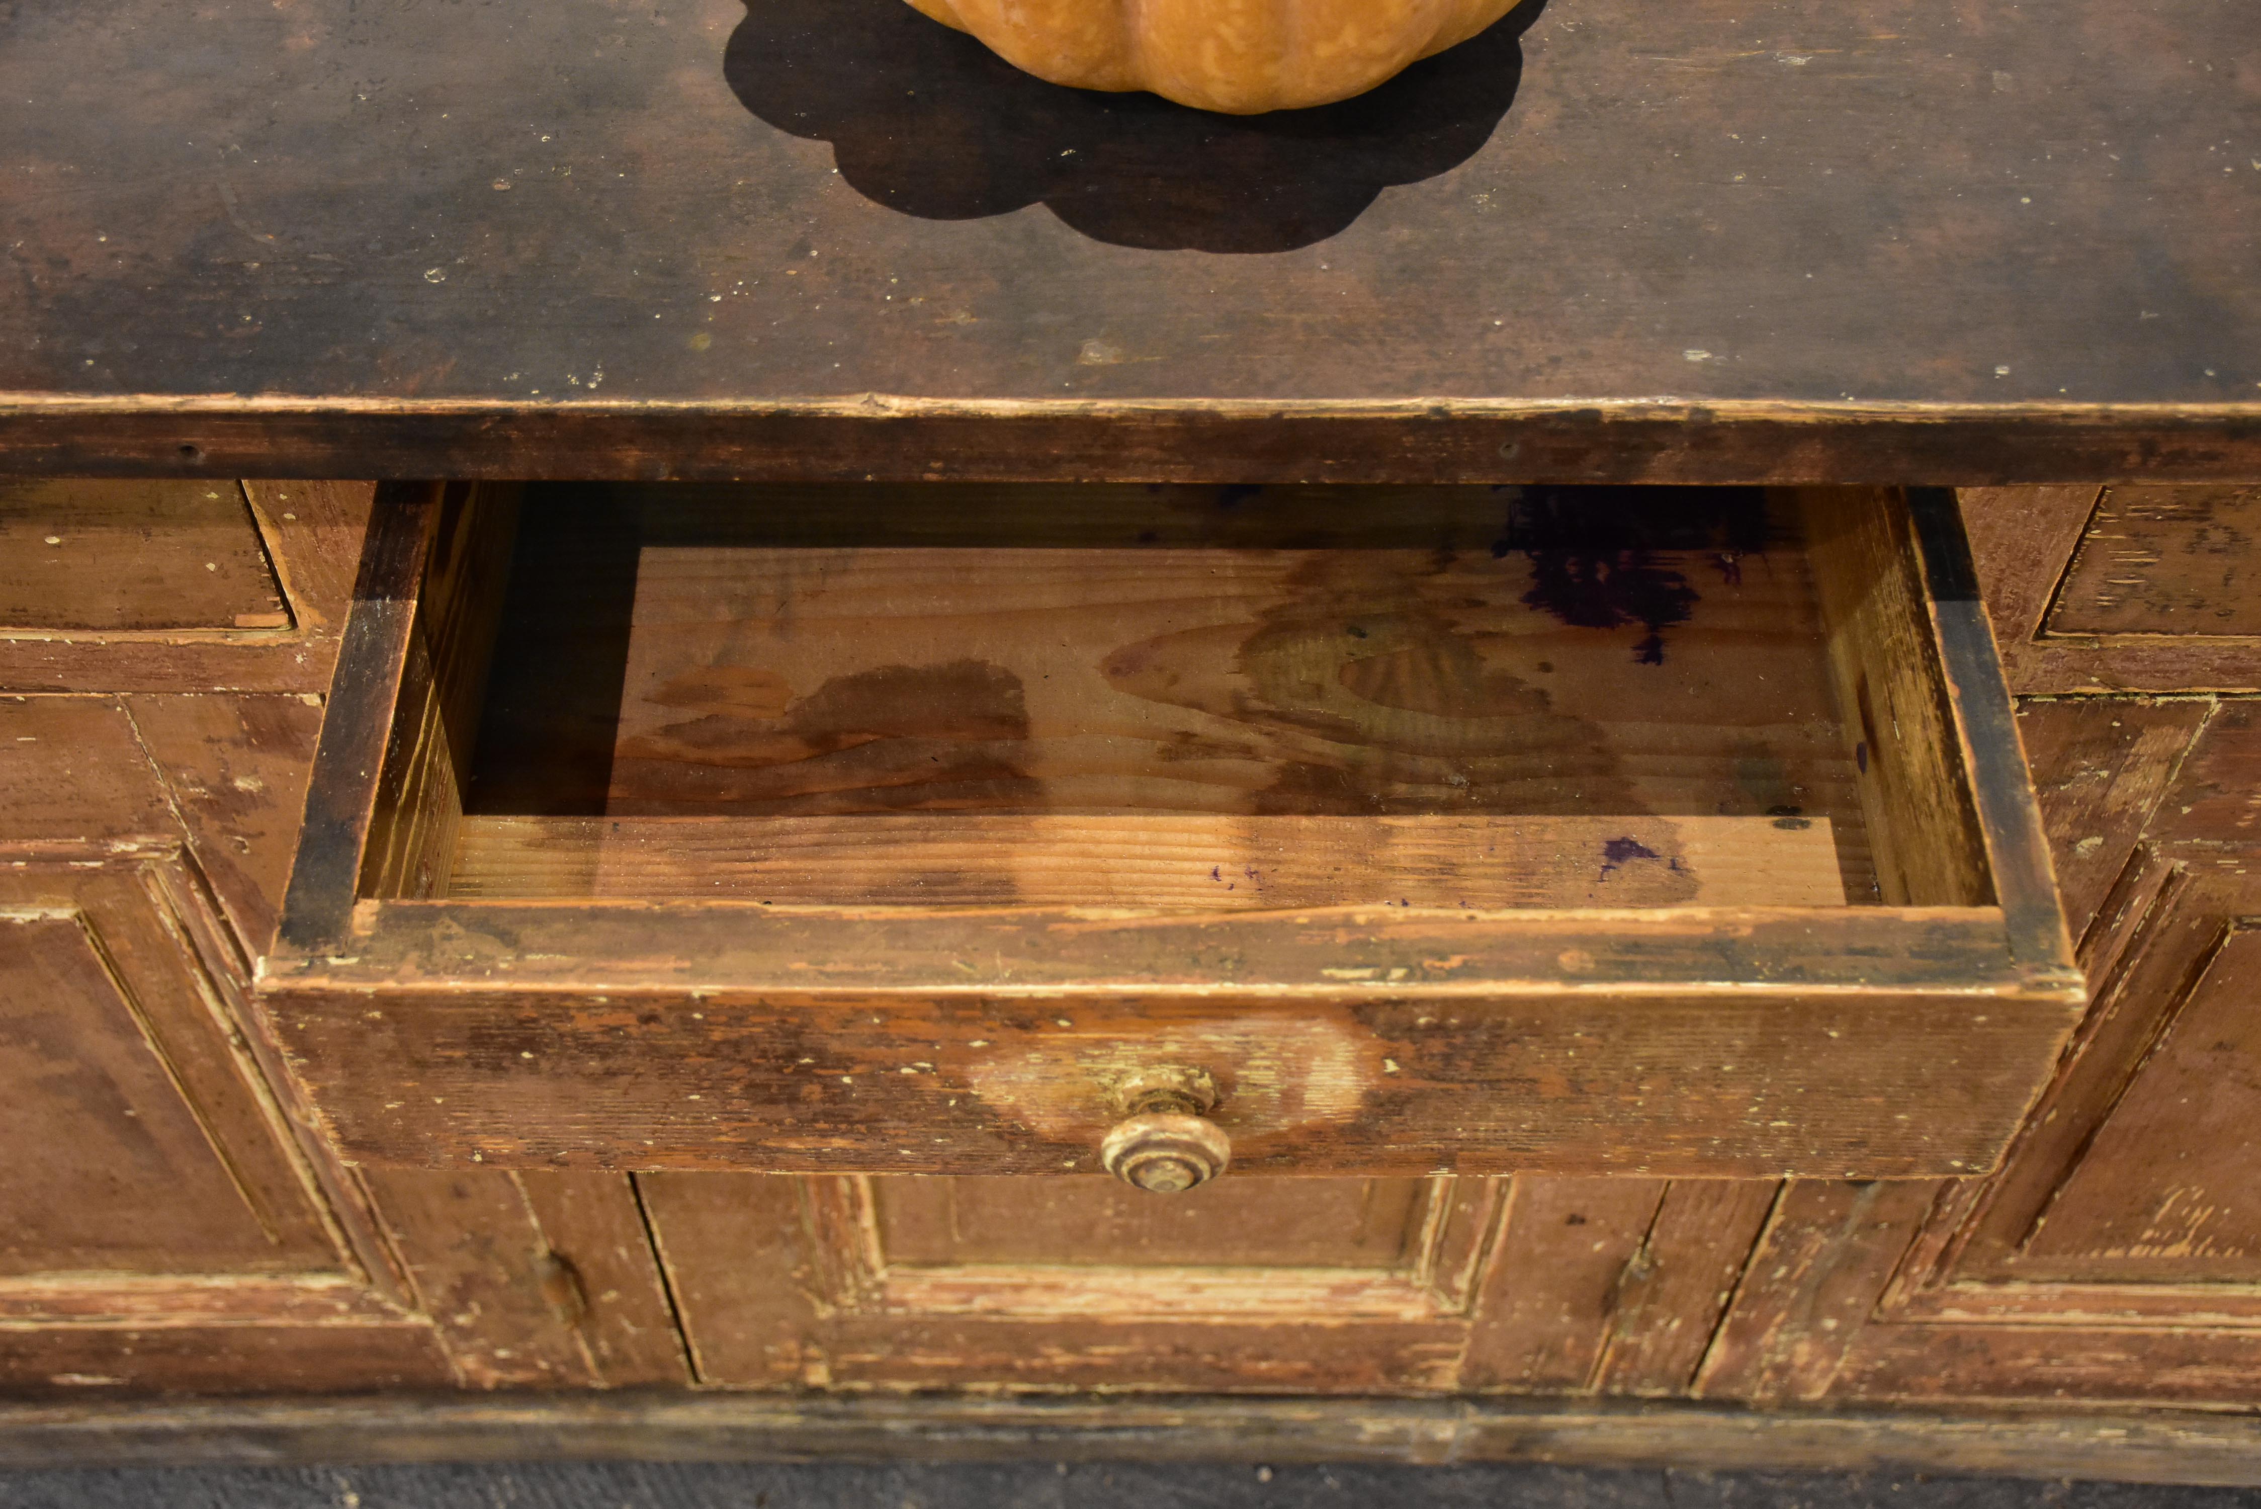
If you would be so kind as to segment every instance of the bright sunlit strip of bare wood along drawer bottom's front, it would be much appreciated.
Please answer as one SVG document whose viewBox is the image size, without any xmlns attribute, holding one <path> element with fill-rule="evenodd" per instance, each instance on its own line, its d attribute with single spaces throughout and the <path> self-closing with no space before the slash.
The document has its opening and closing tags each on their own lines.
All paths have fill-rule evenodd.
<svg viewBox="0 0 2261 1509">
<path fill-rule="evenodd" d="M 1845 905 L 1807 817 L 468 817 L 448 896 L 828 907 Z"/>
</svg>

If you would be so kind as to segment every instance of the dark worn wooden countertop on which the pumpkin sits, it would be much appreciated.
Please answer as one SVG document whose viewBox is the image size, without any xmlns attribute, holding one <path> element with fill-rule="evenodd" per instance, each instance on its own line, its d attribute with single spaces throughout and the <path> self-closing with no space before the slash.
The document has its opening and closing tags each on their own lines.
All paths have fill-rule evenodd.
<svg viewBox="0 0 2261 1509">
<path fill-rule="evenodd" d="M 902 0 L 0 2 L 0 471 L 2261 475 L 2245 0 L 1551 0 L 1361 102 Z"/>
</svg>

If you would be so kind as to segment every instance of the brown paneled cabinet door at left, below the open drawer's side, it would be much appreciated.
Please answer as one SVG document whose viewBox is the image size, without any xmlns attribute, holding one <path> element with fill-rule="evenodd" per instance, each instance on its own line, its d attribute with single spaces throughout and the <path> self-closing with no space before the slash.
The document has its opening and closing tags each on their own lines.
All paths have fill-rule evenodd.
<svg viewBox="0 0 2261 1509">
<path fill-rule="evenodd" d="M 0 869 L 0 1391 L 445 1382 L 185 946 L 163 857 Z"/>
</svg>

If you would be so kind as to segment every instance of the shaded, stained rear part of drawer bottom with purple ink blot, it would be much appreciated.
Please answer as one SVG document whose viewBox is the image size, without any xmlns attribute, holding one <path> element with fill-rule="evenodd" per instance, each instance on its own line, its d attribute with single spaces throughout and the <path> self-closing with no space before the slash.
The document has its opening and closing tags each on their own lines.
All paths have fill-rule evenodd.
<svg viewBox="0 0 2261 1509">
<path fill-rule="evenodd" d="M 1031 547 L 1013 534 L 1029 500 L 1006 498 L 986 543 L 898 547 L 882 514 L 866 545 L 841 550 L 717 529 L 712 495 L 647 493 L 601 794 L 574 810 L 534 790 L 525 762 L 543 753 L 511 710 L 556 713 L 529 699 L 491 713 L 500 726 L 482 738 L 516 769 L 479 769 L 468 808 L 1791 812 L 1831 817 L 1859 873 L 1811 566 L 1757 495 L 1517 511 L 1467 489 L 1357 550 L 1280 545 L 1357 538 L 1357 514 L 1391 498 L 1334 495 L 1309 518 L 1291 502 L 1214 509 L 1275 525 L 1212 525 L 1230 547 Z M 746 491 L 739 507 L 764 518 L 791 495 Z M 1128 534 L 1110 507 L 1056 500 L 1054 514 Z M 1146 523 L 1137 534 L 1189 523 L 1128 514 Z M 558 584 L 592 575 L 545 566 Z M 518 581 L 531 611 L 556 590 Z M 520 654 L 554 652 L 527 640 Z"/>
</svg>

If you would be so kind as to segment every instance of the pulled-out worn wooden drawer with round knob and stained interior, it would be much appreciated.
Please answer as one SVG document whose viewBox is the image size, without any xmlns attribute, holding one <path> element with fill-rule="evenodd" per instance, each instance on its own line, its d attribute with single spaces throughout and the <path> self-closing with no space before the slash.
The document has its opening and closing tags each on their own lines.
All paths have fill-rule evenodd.
<svg viewBox="0 0 2261 1509">
<path fill-rule="evenodd" d="M 2082 993 L 1854 489 L 393 486 L 262 977 L 366 1163 L 1158 1188 L 1978 1174 Z"/>
</svg>

